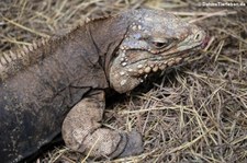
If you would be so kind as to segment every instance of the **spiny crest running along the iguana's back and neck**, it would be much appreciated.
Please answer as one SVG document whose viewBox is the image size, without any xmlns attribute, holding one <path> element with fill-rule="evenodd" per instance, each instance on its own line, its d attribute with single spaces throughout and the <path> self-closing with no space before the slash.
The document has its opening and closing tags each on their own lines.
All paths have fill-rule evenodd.
<svg viewBox="0 0 247 163">
<path fill-rule="evenodd" d="M 57 43 L 64 42 L 72 35 L 74 31 L 77 31 L 81 26 L 93 23 L 97 21 L 105 20 L 109 18 L 113 18 L 114 15 L 103 15 L 90 19 L 90 21 L 86 21 L 86 23 L 78 25 L 76 28 L 72 28 L 69 33 L 63 36 L 55 36 L 50 38 L 42 37 L 37 42 L 33 42 L 31 45 L 25 45 L 21 49 L 8 51 L 3 55 L 0 54 L 0 81 L 1 79 L 5 79 L 8 77 L 14 75 L 20 70 L 25 69 L 26 67 L 36 63 L 41 57 L 46 57 L 52 54 L 46 54 L 44 51 L 47 48 L 52 48 L 52 46 L 56 46 Z"/>
</svg>

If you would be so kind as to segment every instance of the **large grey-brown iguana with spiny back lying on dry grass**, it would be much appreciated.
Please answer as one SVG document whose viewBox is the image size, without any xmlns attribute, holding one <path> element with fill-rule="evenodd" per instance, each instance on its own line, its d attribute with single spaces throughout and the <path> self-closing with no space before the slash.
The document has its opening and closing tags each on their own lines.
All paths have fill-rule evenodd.
<svg viewBox="0 0 247 163">
<path fill-rule="evenodd" d="M 3 54 L 1 162 L 19 162 L 60 132 L 68 148 L 91 156 L 141 153 L 141 133 L 101 126 L 105 90 L 133 90 L 145 75 L 202 48 L 205 37 L 203 30 L 170 13 L 138 9 Z"/>
</svg>

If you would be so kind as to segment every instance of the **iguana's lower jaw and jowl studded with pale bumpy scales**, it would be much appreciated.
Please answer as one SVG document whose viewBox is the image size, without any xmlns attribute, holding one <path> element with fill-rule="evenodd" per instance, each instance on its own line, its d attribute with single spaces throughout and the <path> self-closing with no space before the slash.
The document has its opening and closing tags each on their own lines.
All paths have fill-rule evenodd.
<svg viewBox="0 0 247 163">
<path fill-rule="evenodd" d="M 146 51 L 139 51 L 144 55 Z M 137 62 L 127 63 L 115 59 L 110 68 L 110 84 L 119 93 L 125 93 L 144 81 L 144 78 L 150 73 L 156 73 L 172 66 L 179 65 L 191 53 L 180 54 L 177 57 L 155 57 L 146 58 Z"/>
</svg>

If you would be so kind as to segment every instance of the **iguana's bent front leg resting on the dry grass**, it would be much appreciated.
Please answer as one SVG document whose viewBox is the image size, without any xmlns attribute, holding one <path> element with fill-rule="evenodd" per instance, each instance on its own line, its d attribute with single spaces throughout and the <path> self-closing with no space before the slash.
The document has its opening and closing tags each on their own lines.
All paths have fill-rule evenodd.
<svg viewBox="0 0 247 163">
<path fill-rule="evenodd" d="M 66 145 L 97 158 L 141 153 L 143 143 L 139 133 L 101 128 L 104 106 L 104 92 L 93 91 L 68 113 L 61 129 Z"/>
</svg>

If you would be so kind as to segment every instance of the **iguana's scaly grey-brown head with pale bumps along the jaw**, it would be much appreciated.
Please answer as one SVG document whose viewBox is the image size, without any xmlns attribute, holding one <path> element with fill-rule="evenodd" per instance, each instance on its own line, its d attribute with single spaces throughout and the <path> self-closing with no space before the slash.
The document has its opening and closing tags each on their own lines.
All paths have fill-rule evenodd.
<svg viewBox="0 0 247 163">
<path fill-rule="evenodd" d="M 136 10 L 123 19 L 130 26 L 109 75 L 120 93 L 133 90 L 149 73 L 179 65 L 205 44 L 204 31 L 164 11 Z"/>
</svg>

